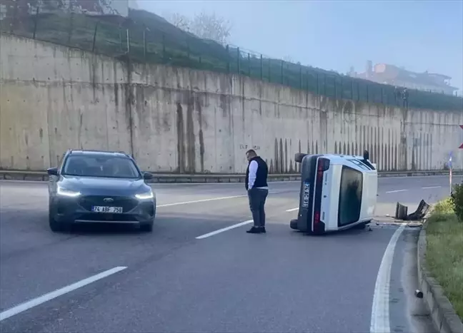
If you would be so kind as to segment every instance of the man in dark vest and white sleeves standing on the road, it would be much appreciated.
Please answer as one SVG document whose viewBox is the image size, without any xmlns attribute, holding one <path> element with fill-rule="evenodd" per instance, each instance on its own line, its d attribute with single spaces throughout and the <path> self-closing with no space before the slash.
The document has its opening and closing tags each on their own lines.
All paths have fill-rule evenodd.
<svg viewBox="0 0 463 333">
<path fill-rule="evenodd" d="M 265 200 L 269 194 L 267 185 L 267 175 L 269 168 L 257 153 L 250 149 L 246 152 L 246 158 L 249 161 L 246 170 L 246 190 L 249 198 L 249 208 L 252 212 L 254 226 L 247 230 L 249 234 L 259 234 L 265 232 Z"/>
</svg>

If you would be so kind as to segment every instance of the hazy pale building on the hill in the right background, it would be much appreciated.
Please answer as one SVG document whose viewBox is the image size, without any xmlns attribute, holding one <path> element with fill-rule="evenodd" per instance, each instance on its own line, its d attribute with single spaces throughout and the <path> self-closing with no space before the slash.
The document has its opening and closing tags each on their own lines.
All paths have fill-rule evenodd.
<svg viewBox="0 0 463 333">
<path fill-rule="evenodd" d="M 432 91 L 434 93 L 444 93 L 446 95 L 455 95 L 458 91 L 458 88 L 450 85 L 450 80 L 452 79 L 450 76 L 428 73 L 427 71 L 416 73 L 387 63 L 377 63 L 372 66 L 372 61 L 367 61 L 367 68 L 364 73 L 357 73 L 351 67 L 348 75 L 377 83 L 421 91 Z"/>
</svg>

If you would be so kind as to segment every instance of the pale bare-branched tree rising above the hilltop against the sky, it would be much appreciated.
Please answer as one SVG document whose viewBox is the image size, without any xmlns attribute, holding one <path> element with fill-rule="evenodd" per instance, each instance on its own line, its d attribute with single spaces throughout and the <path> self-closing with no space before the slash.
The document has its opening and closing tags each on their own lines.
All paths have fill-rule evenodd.
<svg viewBox="0 0 463 333">
<path fill-rule="evenodd" d="M 201 39 L 211 39 L 217 43 L 227 43 L 231 24 L 223 17 L 216 16 L 216 14 L 207 14 L 202 11 L 201 14 L 194 16 L 193 19 L 181 14 L 174 14 L 171 16 L 171 24 L 184 30 L 191 32 Z"/>
</svg>

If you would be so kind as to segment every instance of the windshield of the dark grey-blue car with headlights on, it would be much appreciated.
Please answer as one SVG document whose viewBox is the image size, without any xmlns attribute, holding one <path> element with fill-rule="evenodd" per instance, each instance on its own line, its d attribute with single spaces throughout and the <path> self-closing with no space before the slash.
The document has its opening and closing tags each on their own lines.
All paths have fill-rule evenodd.
<svg viewBox="0 0 463 333">
<path fill-rule="evenodd" d="M 69 155 L 62 174 L 81 177 L 141 177 L 132 160 L 113 155 Z"/>
</svg>

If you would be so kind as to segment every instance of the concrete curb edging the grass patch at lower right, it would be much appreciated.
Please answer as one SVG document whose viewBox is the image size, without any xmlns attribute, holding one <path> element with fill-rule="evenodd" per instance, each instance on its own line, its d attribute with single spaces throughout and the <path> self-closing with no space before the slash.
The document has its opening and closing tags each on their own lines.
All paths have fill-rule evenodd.
<svg viewBox="0 0 463 333">
<path fill-rule="evenodd" d="M 427 270 L 426 256 L 426 227 L 424 222 L 419 232 L 417 260 L 418 283 L 423 292 L 423 299 L 430 311 L 434 327 L 440 333 L 463 333 L 463 323 L 455 312 L 449 299 L 444 295 L 444 290 Z"/>
</svg>

